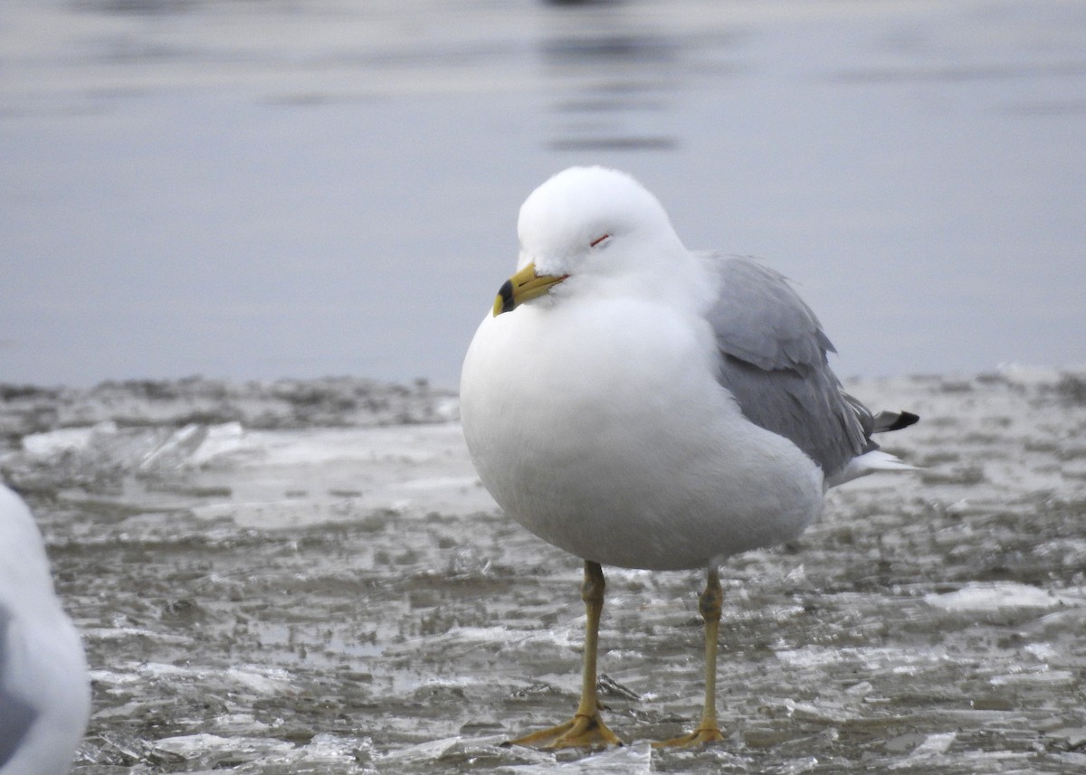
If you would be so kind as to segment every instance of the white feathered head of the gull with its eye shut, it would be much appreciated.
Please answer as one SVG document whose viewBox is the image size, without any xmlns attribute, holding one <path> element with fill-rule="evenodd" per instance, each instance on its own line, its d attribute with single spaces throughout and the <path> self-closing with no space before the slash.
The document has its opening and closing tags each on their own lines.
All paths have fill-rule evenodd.
<svg viewBox="0 0 1086 775">
<path fill-rule="evenodd" d="M 681 246 L 659 201 L 626 173 L 605 167 L 570 167 L 532 191 L 520 206 L 517 234 L 520 266 L 533 263 L 541 275 L 605 269 L 621 245 L 631 258 L 631 252 Z"/>
</svg>

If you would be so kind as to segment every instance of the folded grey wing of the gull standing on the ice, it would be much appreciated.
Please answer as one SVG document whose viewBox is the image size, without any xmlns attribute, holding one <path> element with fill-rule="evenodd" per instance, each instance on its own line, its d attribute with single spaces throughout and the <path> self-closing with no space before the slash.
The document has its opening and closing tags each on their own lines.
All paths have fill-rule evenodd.
<svg viewBox="0 0 1086 775">
<path fill-rule="evenodd" d="M 828 480 L 876 449 L 874 418 L 830 370 L 825 354 L 836 351 L 784 277 L 749 258 L 705 261 L 718 278 L 706 314 L 720 351 L 718 381 L 747 419 L 791 440 Z"/>
</svg>

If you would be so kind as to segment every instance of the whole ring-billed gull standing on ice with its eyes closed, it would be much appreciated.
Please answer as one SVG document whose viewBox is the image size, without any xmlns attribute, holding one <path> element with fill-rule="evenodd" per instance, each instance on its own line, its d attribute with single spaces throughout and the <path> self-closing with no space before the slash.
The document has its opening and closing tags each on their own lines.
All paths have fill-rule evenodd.
<svg viewBox="0 0 1086 775">
<path fill-rule="evenodd" d="M 588 609 L 573 719 L 513 740 L 620 745 L 599 715 L 601 564 L 707 568 L 706 697 L 690 735 L 722 739 L 716 710 L 718 566 L 795 538 L 826 488 L 910 467 L 826 364 L 833 345 L 783 277 L 687 251 L 660 203 L 623 173 L 567 169 L 520 208 L 518 271 L 468 348 L 460 415 L 498 505 L 584 559 Z"/>
</svg>

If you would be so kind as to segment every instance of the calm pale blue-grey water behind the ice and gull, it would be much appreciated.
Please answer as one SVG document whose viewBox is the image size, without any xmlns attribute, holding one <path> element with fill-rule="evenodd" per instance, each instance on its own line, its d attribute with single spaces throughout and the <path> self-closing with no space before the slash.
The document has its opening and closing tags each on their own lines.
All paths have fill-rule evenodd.
<svg viewBox="0 0 1086 775">
<path fill-rule="evenodd" d="M 1086 363 L 1084 3 L 4 0 L 0 381 L 455 387 L 596 163 L 842 376 Z"/>
</svg>

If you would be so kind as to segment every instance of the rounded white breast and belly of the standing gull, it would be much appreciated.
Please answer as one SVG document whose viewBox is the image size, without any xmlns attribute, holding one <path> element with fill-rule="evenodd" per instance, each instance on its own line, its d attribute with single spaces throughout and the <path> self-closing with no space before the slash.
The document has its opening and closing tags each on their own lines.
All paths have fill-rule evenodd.
<svg viewBox="0 0 1086 775">
<path fill-rule="evenodd" d="M 820 512 L 820 469 L 748 422 L 687 318 L 601 329 L 568 306 L 488 318 L 464 364 L 460 414 L 482 483 L 506 512 L 584 559 L 704 567 L 787 541 Z M 668 325 L 673 323 L 673 325 Z"/>
</svg>

